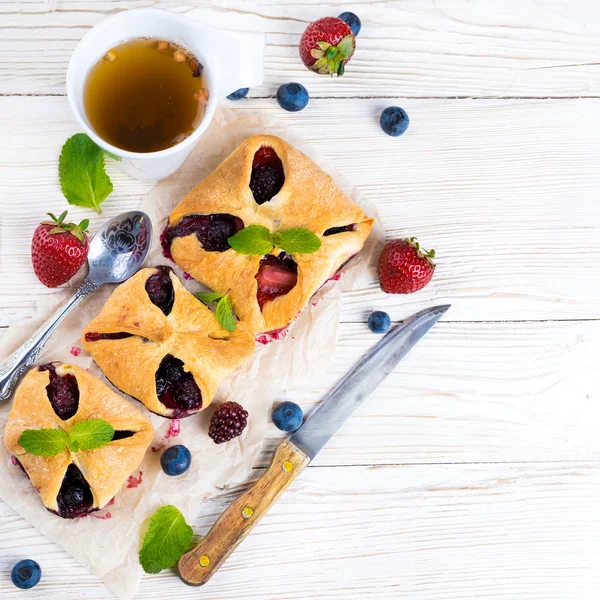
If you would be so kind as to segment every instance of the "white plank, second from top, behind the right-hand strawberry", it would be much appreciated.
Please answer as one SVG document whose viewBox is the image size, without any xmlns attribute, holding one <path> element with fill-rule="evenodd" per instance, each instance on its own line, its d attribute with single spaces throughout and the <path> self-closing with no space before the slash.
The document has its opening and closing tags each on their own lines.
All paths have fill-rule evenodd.
<svg viewBox="0 0 600 600">
<path fill-rule="evenodd" d="M 377 115 L 401 102 L 411 115 L 402 138 Z M 374 307 L 405 318 L 451 302 L 452 320 L 600 317 L 599 100 L 315 100 L 301 114 L 251 100 L 240 116 L 276 114 L 308 139 L 377 205 L 388 237 L 417 235 L 438 252 L 424 291 L 385 295 L 375 277 L 347 294 L 343 318 Z M 335 109 L 332 109 L 332 107 Z M 30 239 L 48 210 L 66 202 L 57 158 L 77 131 L 64 98 L 0 98 L 0 201 L 4 299 L 0 325 L 32 314 L 53 293 L 35 278 Z M 149 186 L 109 166 L 115 192 L 105 218 L 136 207 Z"/>
</svg>

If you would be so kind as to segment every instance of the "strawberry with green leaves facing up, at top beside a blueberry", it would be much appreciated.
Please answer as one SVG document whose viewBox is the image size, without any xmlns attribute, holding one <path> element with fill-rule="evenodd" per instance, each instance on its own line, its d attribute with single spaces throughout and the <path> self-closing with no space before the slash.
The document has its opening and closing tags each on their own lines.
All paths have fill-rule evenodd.
<svg viewBox="0 0 600 600">
<path fill-rule="evenodd" d="M 311 70 L 323 75 L 343 75 L 352 58 L 356 39 L 352 29 L 337 17 L 313 21 L 300 39 L 300 58 Z"/>
</svg>

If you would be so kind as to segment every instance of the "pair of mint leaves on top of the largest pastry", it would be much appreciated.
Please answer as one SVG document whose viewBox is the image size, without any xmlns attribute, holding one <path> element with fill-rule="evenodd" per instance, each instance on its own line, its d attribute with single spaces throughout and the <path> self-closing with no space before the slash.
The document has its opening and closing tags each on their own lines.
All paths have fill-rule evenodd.
<svg viewBox="0 0 600 600">
<path fill-rule="evenodd" d="M 271 233 L 262 225 L 249 225 L 228 238 L 227 242 L 238 254 L 269 254 L 281 248 L 288 254 L 312 254 L 321 247 L 317 235 L 302 227 Z"/>
</svg>

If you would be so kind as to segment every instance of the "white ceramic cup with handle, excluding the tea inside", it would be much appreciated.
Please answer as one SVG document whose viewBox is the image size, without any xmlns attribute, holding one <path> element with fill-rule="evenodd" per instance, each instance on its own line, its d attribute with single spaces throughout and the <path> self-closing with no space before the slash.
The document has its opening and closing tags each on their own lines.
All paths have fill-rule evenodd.
<svg viewBox="0 0 600 600">
<path fill-rule="evenodd" d="M 179 144 L 159 152 L 129 152 L 105 142 L 91 128 L 83 106 L 85 80 L 91 67 L 117 44 L 140 37 L 174 42 L 204 66 L 209 100 L 198 128 Z M 121 158 L 123 171 L 141 181 L 156 182 L 174 173 L 208 127 L 218 103 L 228 94 L 263 81 L 264 35 L 207 27 L 187 17 L 154 8 L 113 15 L 79 42 L 67 70 L 67 97 L 77 121 L 100 147 Z"/>
</svg>

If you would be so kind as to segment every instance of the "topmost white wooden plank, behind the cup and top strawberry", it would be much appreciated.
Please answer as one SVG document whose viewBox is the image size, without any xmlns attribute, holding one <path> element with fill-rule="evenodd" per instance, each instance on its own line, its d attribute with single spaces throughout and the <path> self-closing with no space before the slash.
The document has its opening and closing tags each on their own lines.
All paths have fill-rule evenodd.
<svg viewBox="0 0 600 600">
<path fill-rule="evenodd" d="M 518 0 L 407 0 L 348 4 L 311 0 L 55 0 L 0 4 L 0 93 L 63 94 L 81 37 L 108 14 L 154 6 L 208 24 L 266 32 L 265 83 L 284 81 L 313 97 L 595 96 L 600 91 L 600 6 Z M 340 80 L 317 77 L 298 56 L 300 35 L 319 17 L 354 10 L 363 29 Z"/>
</svg>

